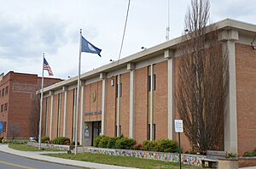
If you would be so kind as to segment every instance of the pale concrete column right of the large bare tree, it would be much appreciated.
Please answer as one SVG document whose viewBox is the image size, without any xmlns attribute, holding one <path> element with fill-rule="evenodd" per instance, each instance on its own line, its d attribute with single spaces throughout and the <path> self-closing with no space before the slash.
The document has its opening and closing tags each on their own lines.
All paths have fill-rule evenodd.
<svg viewBox="0 0 256 169">
<path fill-rule="evenodd" d="M 238 31 L 222 31 L 220 40 L 224 41 L 224 54 L 229 60 L 229 94 L 224 115 L 224 149 L 238 151 L 237 144 L 237 116 L 236 116 L 236 48 L 235 42 L 239 39 Z"/>
</svg>

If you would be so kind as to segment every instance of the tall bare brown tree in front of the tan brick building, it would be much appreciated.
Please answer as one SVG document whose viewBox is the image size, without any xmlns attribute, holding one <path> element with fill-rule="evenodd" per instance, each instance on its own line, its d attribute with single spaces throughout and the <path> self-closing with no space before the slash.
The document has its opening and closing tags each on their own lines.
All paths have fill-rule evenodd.
<svg viewBox="0 0 256 169">
<path fill-rule="evenodd" d="M 227 54 L 216 25 L 208 25 L 208 0 L 191 0 L 178 47 L 177 113 L 193 149 L 221 149 L 228 93 Z"/>
</svg>

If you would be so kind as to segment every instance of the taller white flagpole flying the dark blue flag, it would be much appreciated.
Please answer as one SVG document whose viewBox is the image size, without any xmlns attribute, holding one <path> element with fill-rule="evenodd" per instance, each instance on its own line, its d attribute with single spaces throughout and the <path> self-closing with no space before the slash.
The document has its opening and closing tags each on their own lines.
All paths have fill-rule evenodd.
<svg viewBox="0 0 256 169">
<path fill-rule="evenodd" d="M 82 50 L 82 29 L 80 29 L 80 47 L 79 47 L 79 76 L 78 76 L 78 89 L 77 89 L 77 109 L 76 109 L 76 122 L 75 122 L 75 150 L 74 154 L 78 153 L 78 128 L 79 128 L 79 90 L 80 90 L 80 70 L 81 70 L 81 50 Z"/>
</svg>

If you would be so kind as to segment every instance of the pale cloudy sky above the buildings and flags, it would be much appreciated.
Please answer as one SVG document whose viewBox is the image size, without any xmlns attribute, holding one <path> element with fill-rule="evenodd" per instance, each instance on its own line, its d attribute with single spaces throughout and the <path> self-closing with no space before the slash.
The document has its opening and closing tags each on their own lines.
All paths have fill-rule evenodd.
<svg viewBox="0 0 256 169">
<path fill-rule="evenodd" d="M 190 0 L 170 1 L 170 39 L 180 37 Z M 128 0 L 0 0 L 0 74 L 42 76 L 43 53 L 56 78 L 78 75 L 79 30 L 97 48 L 83 53 L 81 73 L 119 59 Z M 210 0 L 210 22 L 256 25 L 255 0 Z M 131 0 L 120 58 L 166 42 L 168 0 Z M 44 72 L 44 76 L 48 76 Z"/>
</svg>

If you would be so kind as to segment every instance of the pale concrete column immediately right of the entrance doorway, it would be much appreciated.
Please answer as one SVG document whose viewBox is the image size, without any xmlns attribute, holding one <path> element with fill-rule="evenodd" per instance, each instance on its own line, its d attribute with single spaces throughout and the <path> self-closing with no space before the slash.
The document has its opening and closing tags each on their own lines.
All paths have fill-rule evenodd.
<svg viewBox="0 0 256 169">
<path fill-rule="evenodd" d="M 102 79 L 102 136 L 105 135 L 105 114 L 106 114 L 106 89 L 107 79 L 106 74 L 101 73 L 100 78 Z"/>
</svg>

